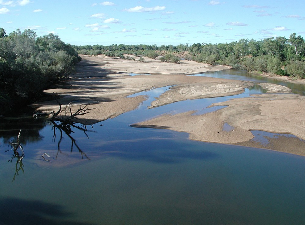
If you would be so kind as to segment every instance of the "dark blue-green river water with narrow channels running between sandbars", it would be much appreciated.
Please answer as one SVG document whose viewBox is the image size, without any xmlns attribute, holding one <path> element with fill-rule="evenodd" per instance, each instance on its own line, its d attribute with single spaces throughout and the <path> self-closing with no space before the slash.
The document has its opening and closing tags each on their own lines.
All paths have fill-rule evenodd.
<svg viewBox="0 0 305 225">
<path fill-rule="evenodd" d="M 305 223 L 304 157 L 129 126 L 163 113 L 217 110 L 206 107 L 261 93 L 260 86 L 146 109 L 167 88 L 145 92 L 150 97 L 134 111 L 72 128 L 70 137 L 43 118 L 2 119 L 0 224 Z M 22 165 L 10 162 L 8 144 L 20 128 Z"/>
</svg>

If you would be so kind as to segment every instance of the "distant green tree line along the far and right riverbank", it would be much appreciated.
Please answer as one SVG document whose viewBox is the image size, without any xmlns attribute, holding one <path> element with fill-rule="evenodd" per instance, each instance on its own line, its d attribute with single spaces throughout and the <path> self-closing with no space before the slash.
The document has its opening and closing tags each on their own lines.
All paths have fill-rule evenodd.
<svg viewBox="0 0 305 225">
<path fill-rule="evenodd" d="M 233 69 L 246 69 L 249 72 L 272 72 L 282 76 L 305 78 L 305 41 L 300 35 L 293 33 L 289 38 L 271 37 L 263 40 L 240 39 L 231 43 L 192 45 L 125 45 L 113 44 L 73 46 L 78 54 L 120 57 L 124 54 L 143 55 L 150 57 L 151 52 L 166 51 L 167 54 L 179 55 L 184 58 L 211 65 L 229 65 Z M 158 55 L 157 55 L 158 56 Z M 154 58 L 157 57 L 154 55 Z M 153 58 L 153 57 L 150 57 Z M 161 61 L 170 56 L 163 56 Z M 175 61 L 176 63 L 179 61 Z"/>
</svg>

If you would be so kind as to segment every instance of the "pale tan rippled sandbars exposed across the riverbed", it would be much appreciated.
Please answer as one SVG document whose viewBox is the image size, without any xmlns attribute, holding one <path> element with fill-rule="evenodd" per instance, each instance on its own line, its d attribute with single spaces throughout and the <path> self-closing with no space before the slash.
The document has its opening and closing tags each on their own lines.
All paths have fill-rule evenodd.
<svg viewBox="0 0 305 225">
<path fill-rule="evenodd" d="M 131 60 L 111 59 L 104 56 L 82 56 L 77 72 L 63 87 L 46 90 L 56 92 L 62 98 L 62 104 L 69 104 L 72 110 L 79 105 L 90 104 L 96 108 L 80 117 L 82 123 L 92 124 L 107 118 L 113 118 L 137 108 L 146 96 L 126 98 L 126 96 L 152 88 L 172 86 L 151 103 L 149 108 L 170 104 L 187 99 L 230 96 L 242 93 L 244 88 L 254 85 L 251 82 L 226 80 L 200 76 L 185 76 L 191 73 L 203 73 L 228 69 L 211 67 L 203 63 L 183 60 L 179 64 L 160 63 L 145 58 L 146 63 Z M 129 73 L 142 75 L 126 76 Z M 149 73 L 149 75 L 147 74 Z M 287 93 L 289 88 L 276 84 L 260 84 L 269 93 Z M 305 97 L 294 94 L 263 94 L 248 98 L 233 99 L 213 104 L 227 106 L 203 115 L 185 112 L 175 115 L 163 115 L 149 121 L 139 121 L 135 126 L 168 129 L 187 132 L 190 138 L 198 141 L 210 141 L 226 144 L 245 145 L 275 149 L 305 156 Z M 38 110 L 56 111 L 55 101 L 37 104 Z M 229 129 L 227 129 L 229 127 Z M 274 133 L 291 133 L 270 139 L 262 144 L 253 139 L 250 130 L 262 130 Z M 301 138 L 301 139 L 300 139 Z M 280 142 L 280 144 L 278 143 Z"/>
</svg>

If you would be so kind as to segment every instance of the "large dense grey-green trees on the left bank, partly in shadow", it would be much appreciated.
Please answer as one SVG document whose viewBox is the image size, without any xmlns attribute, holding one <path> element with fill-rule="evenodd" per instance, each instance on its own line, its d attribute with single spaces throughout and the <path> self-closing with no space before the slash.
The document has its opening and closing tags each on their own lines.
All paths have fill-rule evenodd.
<svg viewBox="0 0 305 225">
<path fill-rule="evenodd" d="M 80 60 L 58 35 L 38 37 L 30 29 L 6 34 L 0 28 L 0 114 L 33 102 L 42 90 L 69 76 Z"/>
</svg>

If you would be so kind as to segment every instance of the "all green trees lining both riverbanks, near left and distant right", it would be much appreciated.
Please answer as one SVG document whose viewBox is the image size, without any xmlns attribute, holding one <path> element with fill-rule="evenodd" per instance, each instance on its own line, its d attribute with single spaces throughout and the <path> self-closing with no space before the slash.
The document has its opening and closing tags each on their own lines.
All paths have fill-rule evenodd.
<svg viewBox="0 0 305 225">
<path fill-rule="evenodd" d="M 29 29 L 6 34 L 0 27 L 0 114 L 17 105 L 33 102 L 42 90 L 67 78 L 73 72 L 74 64 L 81 60 L 78 54 L 104 54 L 134 60 L 124 56 L 130 54 L 152 59 L 158 57 L 161 62 L 172 63 L 179 63 L 183 57 L 213 66 L 229 65 L 249 72 L 305 78 L 305 41 L 295 33 L 289 38 L 240 39 L 220 44 L 71 46 L 58 35 L 38 37 Z M 145 62 L 140 59 L 138 61 Z"/>
</svg>

